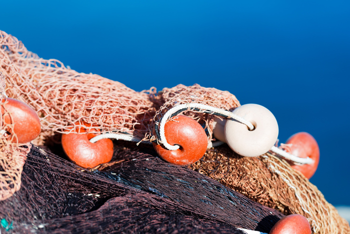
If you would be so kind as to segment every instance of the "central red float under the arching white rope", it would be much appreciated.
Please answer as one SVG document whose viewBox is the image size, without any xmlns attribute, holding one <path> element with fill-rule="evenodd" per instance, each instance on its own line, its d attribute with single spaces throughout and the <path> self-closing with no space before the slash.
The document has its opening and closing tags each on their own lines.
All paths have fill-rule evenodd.
<svg viewBox="0 0 350 234">
<path fill-rule="evenodd" d="M 158 155 L 165 161 L 176 165 L 188 165 L 198 161 L 205 153 L 207 137 L 200 124 L 187 116 L 176 116 L 164 126 L 167 143 L 179 145 L 176 150 L 168 150 L 153 142 Z"/>
</svg>

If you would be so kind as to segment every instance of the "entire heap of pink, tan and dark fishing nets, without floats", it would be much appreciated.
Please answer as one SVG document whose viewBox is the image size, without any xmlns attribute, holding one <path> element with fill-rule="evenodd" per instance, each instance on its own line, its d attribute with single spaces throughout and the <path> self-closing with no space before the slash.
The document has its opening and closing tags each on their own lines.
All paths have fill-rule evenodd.
<svg viewBox="0 0 350 234">
<path fill-rule="evenodd" d="M 119 82 L 67 69 L 57 60 L 41 59 L 4 32 L 0 32 L 0 71 L 7 82 L 6 94 L 27 103 L 39 115 L 42 131 L 34 141 L 36 145 L 43 145 L 50 136 L 72 132 L 83 124 L 102 133 L 131 134 L 143 137 L 144 141 L 154 140 L 154 126 L 176 105 L 200 103 L 229 111 L 239 106 L 229 92 L 199 85 L 178 85 L 158 93 L 155 89 L 135 92 Z M 5 114 L 2 113 L 0 121 Z M 205 128 L 210 147 L 215 140 L 213 116 L 203 111 L 184 114 Z M 0 132 L 10 131 L 11 127 L 1 124 Z M 17 192 L 0 202 L 0 218 L 13 220 L 13 230 L 20 233 L 34 229 L 55 233 L 59 232 L 58 228 L 84 232 L 89 228 L 84 226 L 86 223 L 93 230 L 128 232 L 132 228 L 127 222 L 135 225 L 132 229 L 135 232 L 152 232 L 154 228 L 163 233 L 205 232 L 203 228 L 189 228 L 199 222 L 212 232 L 219 229 L 223 233 L 226 230 L 241 233 L 232 226 L 268 232 L 271 223 L 283 216 L 233 190 L 283 214 L 304 215 L 313 233 L 350 233 L 348 223 L 314 185 L 284 160 L 269 153 L 247 158 L 221 146 L 208 149 L 201 160 L 188 166 L 192 169 L 189 170 L 162 162 L 147 147 L 137 148 L 134 144 L 125 147 L 124 142 L 123 146 L 117 146 L 114 142 L 112 162 L 97 166 L 95 169 L 99 171 L 89 172 L 30 144 L 12 143 L 15 136 L 11 137 L 0 134 L 0 200 Z M 28 159 L 24 164 L 26 155 Z M 199 178 L 205 180 L 201 187 L 197 187 Z M 168 183 L 164 184 L 164 179 L 169 179 Z M 171 189 L 173 184 L 176 186 Z M 221 209 L 227 204 L 242 206 L 230 206 L 227 215 Z M 211 214 L 207 210 L 211 210 Z M 249 212 L 253 216 L 249 216 Z M 273 217 L 268 217 L 270 212 Z M 124 219 L 114 213 L 124 215 Z M 151 216 L 147 219 L 140 215 L 145 213 Z M 111 218 L 111 223 L 105 223 L 103 217 Z M 79 225 L 74 224 L 75 221 Z M 160 223 L 167 224 L 161 227 Z M 173 223 L 177 223 L 178 228 L 173 227 Z"/>
</svg>

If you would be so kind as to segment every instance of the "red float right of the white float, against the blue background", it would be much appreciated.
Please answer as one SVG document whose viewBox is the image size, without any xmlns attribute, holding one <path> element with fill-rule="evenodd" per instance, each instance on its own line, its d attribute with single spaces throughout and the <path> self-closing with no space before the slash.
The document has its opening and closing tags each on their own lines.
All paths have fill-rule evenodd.
<svg viewBox="0 0 350 234">
<path fill-rule="evenodd" d="M 303 165 L 296 165 L 289 162 L 291 167 L 310 179 L 315 173 L 319 162 L 319 148 L 316 140 L 307 132 L 298 132 L 289 137 L 285 144 L 291 144 L 290 146 L 283 147 L 288 153 L 300 158 L 309 157 L 313 160 L 312 164 Z"/>
</svg>

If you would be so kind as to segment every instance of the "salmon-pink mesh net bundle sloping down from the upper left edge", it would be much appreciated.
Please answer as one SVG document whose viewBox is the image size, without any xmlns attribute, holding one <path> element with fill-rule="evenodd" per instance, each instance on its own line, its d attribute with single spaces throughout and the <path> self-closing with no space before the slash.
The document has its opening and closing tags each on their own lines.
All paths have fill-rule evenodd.
<svg viewBox="0 0 350 234">
<path fill-rule="evenodd" d="M 74 131 L 82 123 L 92 124 L 88 129 L 142 138 L 155 113 L 146 91 L 135 92 L 119 82 L 67 69 L 57 60 L 41 59 L 2 31 L 0 70 L 8 97 L 27 103 L 38 113 L 38 145 L 54 132 Z"/>
</svg>

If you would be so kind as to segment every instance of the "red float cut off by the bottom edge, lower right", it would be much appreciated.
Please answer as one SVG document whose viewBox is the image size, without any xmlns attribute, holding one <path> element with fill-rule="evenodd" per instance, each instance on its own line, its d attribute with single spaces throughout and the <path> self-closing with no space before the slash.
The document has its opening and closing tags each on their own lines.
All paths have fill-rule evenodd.
<svg viewBox="0 0 350 234">
<path fill-rule="evenodd" d="M 311 227 L 304 216 L 289 214 L 276 222 L 268 234 L 311 234 Z"/>
</svg>

